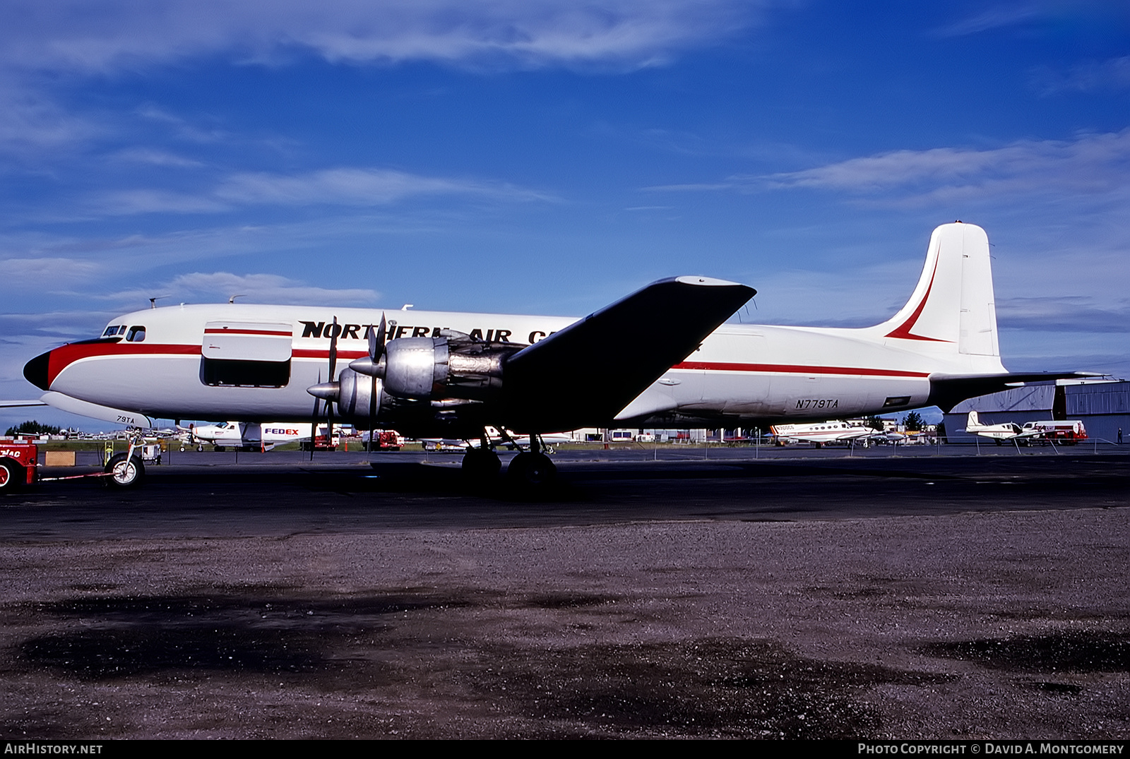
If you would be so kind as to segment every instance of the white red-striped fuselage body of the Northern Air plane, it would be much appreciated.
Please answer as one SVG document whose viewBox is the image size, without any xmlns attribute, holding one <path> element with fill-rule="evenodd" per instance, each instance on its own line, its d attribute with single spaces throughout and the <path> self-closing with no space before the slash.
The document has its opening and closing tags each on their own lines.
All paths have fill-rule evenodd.
<svg viewBox="0 0 1130 759">
<path fill-rule="evenodd" d="M 395 312 L 389 334 L 431 335 L 437 329 L 499 332 L 514 342 L 536 342 L 573 319 L 450 312 Z M 72 343 L 51 367 L 51 391 L 89 403 L 165 419 L 308 420 L 306 387 L 325 381 L 328 337 L 311 324 L 342 324 L 338 360 L 366 355 L 365 330 L 381 312 L 354 308 L 189 305 L 138 311 L 114 320 L 144 326 L 141 342 Z M 209 323 L 288 324 L 289 377 L 281 386 L 209 385 L 202 377 L 205 326 Z M 323 326 L 324 330 L 324 326 Z M 748 422 L 850 417 L 878 409 L 922 405 L 931 372 L 970 370 L 959 355 L 930 356 L 901 349 L 897 340 L 870 339 L 867 330 L 725 324 L 685 361 L 646 389 L 618 419 L 677 416 Z M 306 337 L 304 337 L 306 335 Z M 631 335 L 609 335 L 631 340 Z M 341 366 L 342 364 L 339 364 Z"/>
</svg>

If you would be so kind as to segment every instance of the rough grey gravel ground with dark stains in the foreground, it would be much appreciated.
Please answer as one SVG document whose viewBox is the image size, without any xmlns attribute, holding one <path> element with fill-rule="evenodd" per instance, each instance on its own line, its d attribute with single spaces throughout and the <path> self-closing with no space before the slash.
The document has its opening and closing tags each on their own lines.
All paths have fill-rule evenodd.
<svg viewBox="0 0 1130 759">
<path fill-rule="evenodd" d="M 1125 507 L 7 540 L 0 732 L 1128 739 L 1128 555 Z"/>
</svg>

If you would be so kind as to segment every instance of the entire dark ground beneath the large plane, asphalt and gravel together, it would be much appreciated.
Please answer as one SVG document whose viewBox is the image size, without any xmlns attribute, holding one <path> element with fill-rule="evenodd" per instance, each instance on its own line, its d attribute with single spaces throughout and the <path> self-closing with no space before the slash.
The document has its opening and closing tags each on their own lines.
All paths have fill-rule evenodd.
<svg viewBox="0 0 1130 759">
<path fill-rule="evenodd" d="M 972 453 L 562 452 L 536 500 L 451 454 L 43 483 L 0 499 L 0 733 L 1130 738 L 1130 456 Z"/>
</svg>

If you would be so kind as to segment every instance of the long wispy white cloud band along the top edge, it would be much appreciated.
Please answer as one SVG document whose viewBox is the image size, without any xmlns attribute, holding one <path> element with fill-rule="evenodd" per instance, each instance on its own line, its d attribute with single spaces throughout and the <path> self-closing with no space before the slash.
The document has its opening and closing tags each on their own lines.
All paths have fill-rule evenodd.
<svg viewBox="0 0 1130 759">
<path fill-rule="evenodd" d="M 8 0 L 0 55 L 107 71 L 208 54 L 640 67 L 756 20 L 768 0 Z"/>
</svg>

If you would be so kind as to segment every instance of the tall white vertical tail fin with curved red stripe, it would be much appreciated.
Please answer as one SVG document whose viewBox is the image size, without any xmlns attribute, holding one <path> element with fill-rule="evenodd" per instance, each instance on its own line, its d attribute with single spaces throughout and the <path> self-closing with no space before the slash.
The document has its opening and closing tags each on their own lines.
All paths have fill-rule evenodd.
<svg viewBox="0 0 1130 759">
<path fill-rule="evenodd" d="M 875 328 L 884 338 L 932 343 L 970 356 L 1000 356 L 989 237 L 973 224 L 944 224 L 906 305 Z"/>
</svg>

